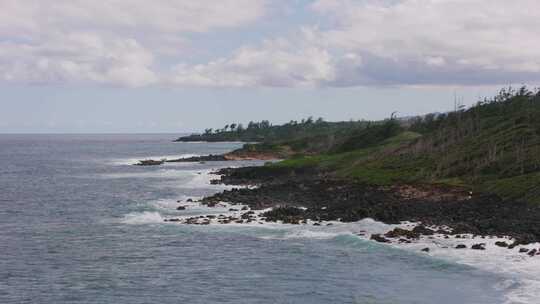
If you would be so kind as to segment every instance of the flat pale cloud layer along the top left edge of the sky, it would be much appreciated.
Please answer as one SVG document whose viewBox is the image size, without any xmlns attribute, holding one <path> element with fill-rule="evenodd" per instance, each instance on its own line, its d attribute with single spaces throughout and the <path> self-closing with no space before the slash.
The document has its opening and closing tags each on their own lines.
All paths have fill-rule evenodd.
<svg viewBox="0 0 540 304">
<path fill-rule="evenodd" d="M 255 21 L 264 11 L 261 0 L 1 0 L 0 28 L 205 32 Z"/>
</svg>

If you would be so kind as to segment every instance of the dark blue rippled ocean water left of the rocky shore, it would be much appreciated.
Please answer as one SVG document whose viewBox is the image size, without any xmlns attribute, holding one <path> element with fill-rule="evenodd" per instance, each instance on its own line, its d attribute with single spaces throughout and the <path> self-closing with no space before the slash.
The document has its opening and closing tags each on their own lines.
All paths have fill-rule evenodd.
<svg viewBox="0 0 540 304">
<path fill-rule="evenodd" d="M 490 273 L 352 236 L 162 222 L 229 164 L 133 159 L 239 146 L 173 137 L 0 135 L 0 303 L 502 302 Z"/>
</svg>

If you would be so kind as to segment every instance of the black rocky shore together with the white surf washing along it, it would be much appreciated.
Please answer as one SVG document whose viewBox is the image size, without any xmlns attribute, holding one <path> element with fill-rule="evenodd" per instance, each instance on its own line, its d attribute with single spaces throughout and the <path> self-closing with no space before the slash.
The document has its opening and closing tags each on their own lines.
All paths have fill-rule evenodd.
<svg viewBox="0 0 540 304">
<path fill-rule="evenodd" d="M 261 166 L 228 167 L 211 174 L 212 184 L 235 187 L 209 197 L 180 200 L 179 210 L 203 206 L 208 212 L 164 221 L 239 229 L 287 229 L 299 237 L 346 237 L 382 243 L 513 277 L 505 284 L 521 281 L 515 285 L 519 288 L 506 295 L 504 303 L 534 303 L 535 296 L 531 295 L 540 288 L 536 278 L 540 270 L 540 243 L 519 230 L 520 222 L 527 218 L 521 213 L 523 210 L 530 213 L 533 223 L 538 216 L 537 210 L 526 205 L 509 205 L 489 196 L 473 199 L 470 192 L 459 188 L 424 185 L 374 189 L 321 178 L 315 172 L 276 173 Z M 362 200 L 371 214 L 356 209 L 359 205 L 362 208 Z M 370 215 L 386 223 L 375 221 Z M 449 216 L 459 221 L 449 221 Z M 400 217 L 415 222 L 400 221 Z M 481 231 L 480 226 L 475 227 L 476 222 L 485 222 L 484 217 L 496 222 L 510 221 L 501 226 L 509 234 L 490 234 L 496 230 Z M 529 225 L 523 223 L 525 227 Z"/>
</svg>

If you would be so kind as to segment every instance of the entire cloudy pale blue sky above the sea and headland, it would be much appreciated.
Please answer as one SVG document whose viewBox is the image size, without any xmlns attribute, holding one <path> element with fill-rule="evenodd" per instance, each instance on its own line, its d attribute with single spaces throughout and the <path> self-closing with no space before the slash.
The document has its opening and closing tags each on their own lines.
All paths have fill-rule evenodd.
<svg viewBox="0 0 540 304">
<path fill-rule="evenodd" d="M 383 119 L 540 83 L 537 0 L 0 0 L 0 133 Z"/>
</svg>

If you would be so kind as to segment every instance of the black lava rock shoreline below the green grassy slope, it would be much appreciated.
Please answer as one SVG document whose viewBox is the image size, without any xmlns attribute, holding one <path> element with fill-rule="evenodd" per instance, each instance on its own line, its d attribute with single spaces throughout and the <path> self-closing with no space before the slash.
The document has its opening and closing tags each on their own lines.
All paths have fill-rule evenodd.
<svg viewBox="0 0 540 304">
<path fill-rule="evenodd" d="M 271 208 L 261 213 L 266 222 L 322 225 L 331 221 L 348 223 L 372 218 L 387 224 L 419 223 L 413 230 L 396 228 L 370 237 L 383 243 L 406 243 L 434 234 L 456 239 L 464 235 L 481 239 L 508 238 L 507 242 L 495 245 L 509 249 L 540 241 L 540 207 L 503 201 L 494 195 L 473 194 L 458 187 L 431 184 L 370 186 L 306 169 L 243 167 L 226 168 L 216 173 L 221 178 L 213 183 L 257 187 L 225 190 L 204 198 L 203 204 L 215 206 L 230 202 L 248 206 L 250 210 Z M 235 220 L 238 219 L 229 222 Z M 456 249 L 464 249 L 463 246 L 456 246 Z M 470 247 L 483 250 L 485 243 Z M 520 252 L 530 256 L 540 254 L 538 249 L 522 248 Z"/>
</svg>

